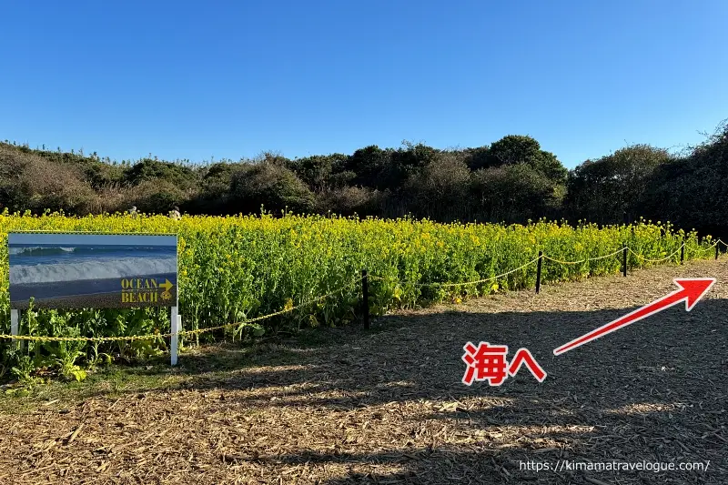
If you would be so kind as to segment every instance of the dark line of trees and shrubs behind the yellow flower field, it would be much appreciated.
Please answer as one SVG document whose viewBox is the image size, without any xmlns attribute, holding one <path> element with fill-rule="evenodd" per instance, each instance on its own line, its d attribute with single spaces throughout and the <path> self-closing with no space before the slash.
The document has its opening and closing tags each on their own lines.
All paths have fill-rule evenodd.
<svg viewBox="0 0 728 485">
<path fill-rule="evenodd" d="M 0 143 L 0 210 L 63 209 L 85 215 L 136 206 L 187 214 L 336 213 L 429 217 L 450 222 L 524 223 L 541 217 L 621 223 L 630 217 L 725 235 L 728 227 L 728 125 L 681 154 L 623 147 L 567 170 L 531 136 L 438 149 L 404 142 L 351 155 L 193 164 L 145 157 L 116 163 L 85 155 Z"/>
</svg>

